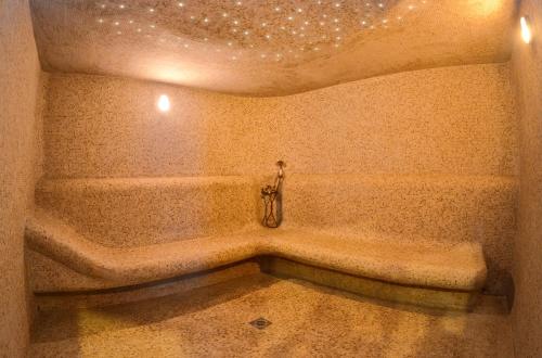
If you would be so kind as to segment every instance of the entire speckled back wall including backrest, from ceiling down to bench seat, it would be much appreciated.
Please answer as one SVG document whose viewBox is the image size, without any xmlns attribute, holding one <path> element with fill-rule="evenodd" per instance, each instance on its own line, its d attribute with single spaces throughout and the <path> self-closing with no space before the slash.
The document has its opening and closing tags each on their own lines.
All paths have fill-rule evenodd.
<svg viewBox="0 0 542 358">
<path fill-rule="evenodd" d="M 480 242 L 488 290 L 506 291 L 517 171 L 507 64 L 282 98 L 52 75 L 48 101 L 37 199 L 90 240 L 131 247 L 257 225 L 258 188 L 283 158 L 285 227 Z M 168 176 L 238 177 L 95 179 Z"/>
</svg>

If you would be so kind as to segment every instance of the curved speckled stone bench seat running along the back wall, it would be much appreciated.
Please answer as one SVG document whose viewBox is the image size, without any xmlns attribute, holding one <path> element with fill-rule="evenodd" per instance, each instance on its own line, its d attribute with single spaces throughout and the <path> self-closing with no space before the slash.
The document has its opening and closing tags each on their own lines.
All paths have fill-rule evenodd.
<svg viewBox="0 0 542 358">
<path fill-rule="evenodd" d="M 475 243 L 424 245 L 366 242 L 307 230 L 260 229 L 136 248 L 93 243 L 43 212 L 27 220 L 26 241 L 68 268 L 124 284 L 204 271 L 271 255 L 352 276 L 403 285 L 478 291 L 487 268 Z"/>
</svg>

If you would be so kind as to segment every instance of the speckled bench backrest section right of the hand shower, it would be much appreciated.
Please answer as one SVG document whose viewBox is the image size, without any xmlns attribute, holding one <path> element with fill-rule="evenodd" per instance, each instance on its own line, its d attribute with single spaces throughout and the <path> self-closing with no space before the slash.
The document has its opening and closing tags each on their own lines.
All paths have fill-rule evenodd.
<svg viewBox="0 0 542 358">
<path fill-rule="evenodd" d="M 284 226 L 380 243 L 481 244 L 486 289 L 509 290 L 516 233 L 514 177 L 291 175 Z"/>
</svg>

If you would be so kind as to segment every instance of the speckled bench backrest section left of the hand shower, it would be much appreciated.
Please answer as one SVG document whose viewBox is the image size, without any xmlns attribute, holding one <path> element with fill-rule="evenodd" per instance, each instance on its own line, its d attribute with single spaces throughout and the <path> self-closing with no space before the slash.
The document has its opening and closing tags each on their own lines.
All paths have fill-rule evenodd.
<svg viewBox="0 0 542 358">
<path fill-rule="evenodd" d="M 36 203 L 93 242 L 137 247 L 256 227 L 260 183 L 250 177 L 43 180 Z"/>
</svg>

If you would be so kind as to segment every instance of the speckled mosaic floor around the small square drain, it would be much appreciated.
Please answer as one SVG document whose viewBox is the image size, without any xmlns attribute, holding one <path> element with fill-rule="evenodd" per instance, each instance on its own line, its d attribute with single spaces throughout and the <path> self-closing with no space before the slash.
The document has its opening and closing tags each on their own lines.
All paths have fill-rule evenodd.
<svg viewBox="0 0 542 358">
<path fill-rule="evenodd" d="M 258 330 L 248 322 L 263 317 Z M 31 357 L 513 357 L 502 302 L 474 312 L 257 274 L 102 308 L 40 312 Z"/>
</svg>

